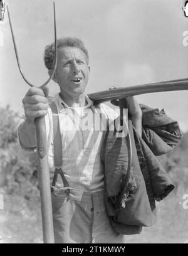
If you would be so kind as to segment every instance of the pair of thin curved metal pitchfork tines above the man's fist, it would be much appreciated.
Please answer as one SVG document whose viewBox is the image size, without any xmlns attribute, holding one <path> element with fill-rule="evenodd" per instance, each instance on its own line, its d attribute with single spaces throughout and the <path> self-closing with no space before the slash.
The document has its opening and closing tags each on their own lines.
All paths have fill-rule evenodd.
<svg viewBox="0 0 188 256">
<path fill-rule="evenodd" d="M 17 60 L 17 63 L 18 63 L 19 72 L 21 73 L 21 75 L 22 75 L 23 79 L 25 80 L 25 82 L 28 83 L 28 85 L 30 85 L 32 87 L 34 85 L 28 81 L 28 79 L 24 76 L 24 73 L 23 73 L 23 71 L 21 69 L 21 65 L 20 65 L 20 62 L 19 62 L 19 56 L 18 56 L 18 50 L 17 50 L 17 47 L 16 47 L 15 39 L 14 39 L 13 26 L 11 24 L 11 16 L 9 14 L 8 6 L 7 6 L 7 11 L 8 11 L 9 24 L 10 24 L 10 28 L 11 28 L 11 34 L 12 34 L 13 43 L 14 43 L 14 51 L 16 53 L 16 60 Z M 57 46 L 57 38 L 56 38 L 55 2 L 53 2 L 53 13 L 54 13 L 54 28 L 55 28 L 55 66 L 53 68 L 53 72 L 51 73 L 50 78 L 48 78 L 48 80 L 45 83 L 43 83 L 43 85 L 41 85 L 40 88 L 43 88 L 45 85 L 47 85 L 50 82 L 51 78 L 53 78 L 53 75 L 55 74 L 55 71 L 56 71 L 57 62 L 58 62 L 58 58 L 57 58 L 58 57 L 58 55 L 57 55 L 58 46 Z"/>
</svg>

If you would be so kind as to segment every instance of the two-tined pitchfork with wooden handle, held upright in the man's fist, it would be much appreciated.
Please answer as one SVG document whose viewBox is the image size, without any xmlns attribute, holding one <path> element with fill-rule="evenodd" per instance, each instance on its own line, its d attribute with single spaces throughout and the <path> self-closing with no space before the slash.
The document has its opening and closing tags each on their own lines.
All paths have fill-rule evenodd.
<svg viewBox="0 0 188 256">
<path fill-rule="evenodd" d="M 7 6 L 8 9 L 8 6 Z M 43 88 L 47 85 L 56 71 L 57 66 L 57 40 L 56 40 L 56 16 L 55 16 L 55 3 L 53 2 L 53 13 L 54 13 L 54 26 L 55 26 L 55 63 L 53 67 L 53 72 L 51 73 L 50 78 L 40 86 Z M 9 24 L 11 28 L 11 35 L 13 38 L 14 51 L 16 53 L 16 60 L 18 63 L 19 72 L 21 73 L 23 79 L 28 85 L 31 87 L 34 86 L 32 83 L 28 81 L 28 79 L 24 76 L 24 73 L 21 69 L 21 65 L 19 63 L 18 51 L 16 48 L 16 42 L 14 40 L 13 27 L 11 24 L 11 17 L 8 9 L 8 18 Z M 38 147 L 38 156 L 39 156 L 39 164 L 38 164 L 38 173 L 39 173 L 39 189 L 40 189 L 40 197 L 41 197 L 41 214 L 43 221 L 43 240 L 44 243 L 54 243 L 54 232 L 53 232 L 53 215 L 52 215 L 52 206 L 51 206 L 51 190 L 50 190 L 50 173 L 48 167 L 48 149 L 47 149 L 47 139 L 46 139 L 46 125 L 44 117 L 38 117 L 35 120 L 36 123 L 36 139 L 37 139 L 37 147 Z"/>
</svg>

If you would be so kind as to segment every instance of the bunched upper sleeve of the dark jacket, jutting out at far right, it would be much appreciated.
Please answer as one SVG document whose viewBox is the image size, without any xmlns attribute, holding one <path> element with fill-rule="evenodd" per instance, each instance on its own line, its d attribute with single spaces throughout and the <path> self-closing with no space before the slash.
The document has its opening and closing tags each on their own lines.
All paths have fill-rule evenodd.
<svg viewBox="0 0 188 256">
<path fill-rule="evenodd" d="M 152 109 L 140 104 L 142 109 L 142 139 L 155 156 L 174 149 L 182 139 L 179 124 L 165 114 L 164 109 Z"/>
</svg>

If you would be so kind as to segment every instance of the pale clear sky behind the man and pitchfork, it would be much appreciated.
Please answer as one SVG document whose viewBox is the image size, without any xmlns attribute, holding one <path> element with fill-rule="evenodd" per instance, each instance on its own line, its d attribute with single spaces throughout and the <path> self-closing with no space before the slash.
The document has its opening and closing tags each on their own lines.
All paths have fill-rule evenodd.
<svg viewBox="0 0 188 256">
<path fill-rule="evenodd" d="M 183 0 L 55 0 L 58 38 L 76 36 L 90 54 L 86 93 L 188 77 L 188 31 Z M 48 78 L 44 47 L 54 38 L 53 1 L 5 0 L 11 13 L 21 67 L 39 86 Z M 188 32 L 187 32 L 188 33 Z M 8 16 L 0 23 L 0 106 L 23 114 L 29 89 L 21 77 L 11 39 Z M 188 35 L 188 34 L 187 34 Z M 50 82 L 50 95 L 58 85 Z M 188 91 L 149 93 L 139 103 L 165 109 L 188 131 Z"/>
</svg>

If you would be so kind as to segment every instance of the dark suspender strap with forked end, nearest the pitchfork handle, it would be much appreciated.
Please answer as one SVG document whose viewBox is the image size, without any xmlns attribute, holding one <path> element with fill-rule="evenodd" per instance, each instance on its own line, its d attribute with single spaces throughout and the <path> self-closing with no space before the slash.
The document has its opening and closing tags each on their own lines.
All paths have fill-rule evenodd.
<svg viewBox="0 0 188 256">
<path fill-rule="evenodd" d="M 52 186 L 56 185 L 58 174 L 60 174 L 64 186 L 69 187 L 68 181 L 66 180 L 65 175 L 61 169 L 63 149 L 62 149 L 58 109 L 56 107 L 55 102 L 51 102 L 50 107 L 53 113 L 53 147 L 54 147 L 54 163 L 55 163 L 55 174 L 53 176 Z"/>
</svg>

